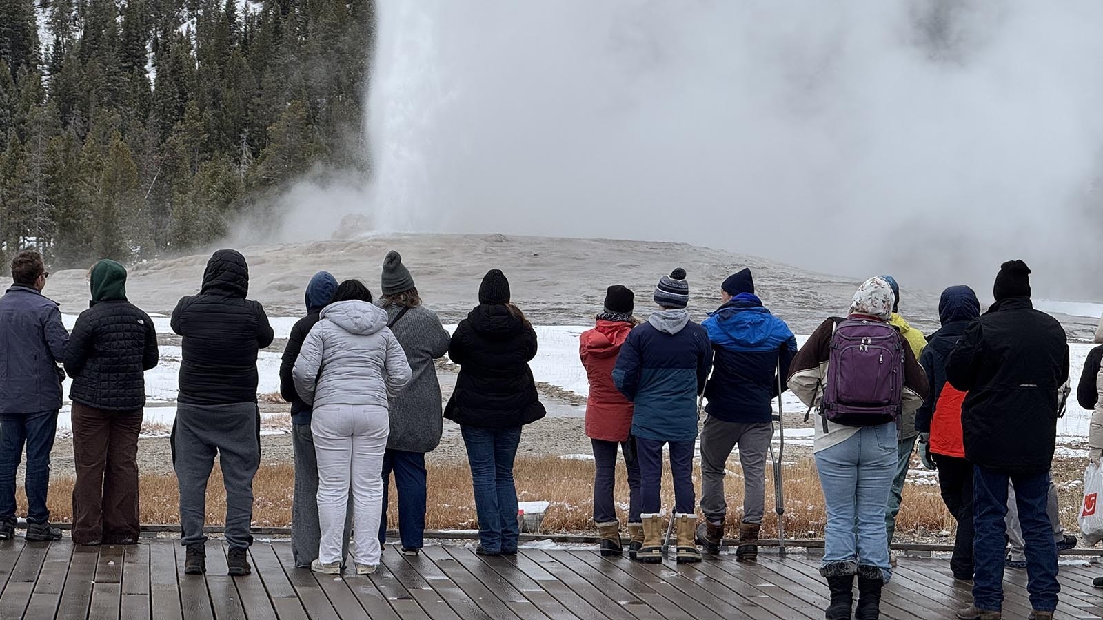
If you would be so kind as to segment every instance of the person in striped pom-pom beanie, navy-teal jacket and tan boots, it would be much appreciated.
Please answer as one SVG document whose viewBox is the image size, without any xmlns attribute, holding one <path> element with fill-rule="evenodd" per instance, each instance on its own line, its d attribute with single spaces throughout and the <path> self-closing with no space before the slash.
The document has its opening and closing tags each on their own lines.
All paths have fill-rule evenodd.
<svg viewBox="0 0 1103 620">
<path fill-rule="evenodd" d="M 670 450 L 677 522 L 677 562 L 700 562 L 694 544 L 693 457 L 697 439 L 697 396 L 713 365 L 705 328 L 689 320 L 685 269 L 674 269 L 655 287 L 660 310 L 632 330 L 613 366 L 617 389 L 632 402 L 632 437 L 641 478 L 643 546 L 636 559 L 663 560 L 663 520 L 658 490 L 663 445 Z"/>
</svg>

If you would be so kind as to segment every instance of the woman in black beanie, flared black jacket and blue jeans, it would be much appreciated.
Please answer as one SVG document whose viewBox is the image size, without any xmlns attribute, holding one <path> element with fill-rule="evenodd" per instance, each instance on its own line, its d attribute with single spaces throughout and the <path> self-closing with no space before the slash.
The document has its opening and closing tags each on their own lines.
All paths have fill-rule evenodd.
<svg viewBox="0 0 1103 620">
<path fill-rule="evenodd" d="M 517 490 L 513 461 L 521 427 L 545 416 L 528 362 L 536 332 L 510 303 L 510 281 L 492 269 L 479 287 L 479 306 L 460 321 L 448 356 L 460 365 L 445 417 L 458 423 L 468 448 L 481 555 L 517 553 Z"/>
</svg>

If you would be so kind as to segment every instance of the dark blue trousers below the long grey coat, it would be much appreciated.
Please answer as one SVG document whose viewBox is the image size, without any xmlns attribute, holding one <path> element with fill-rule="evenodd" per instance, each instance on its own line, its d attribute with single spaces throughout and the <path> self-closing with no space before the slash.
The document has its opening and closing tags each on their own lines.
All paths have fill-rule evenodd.
<svg viewBox="0 0 1103 620">
<path fill-rule="evenodd" d="M 395 491 L 398 493 L 398 535 L 403 541 L 403 548 L 420 549 L 425 544 L 425 452 L 387 450 L 383 456 L 381 545 L 387 542 L 387 502 L 392 473 L 395 474 Z"/>
</svg>

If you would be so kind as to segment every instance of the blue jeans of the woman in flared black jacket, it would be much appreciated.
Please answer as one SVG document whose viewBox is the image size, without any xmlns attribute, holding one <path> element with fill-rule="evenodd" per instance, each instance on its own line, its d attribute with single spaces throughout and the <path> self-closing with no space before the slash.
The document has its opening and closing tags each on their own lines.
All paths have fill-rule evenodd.
<svg viewBox="0 0 1103 620">
<path fill-rule="evenodd" d="M 517 488 L 513 460 L 521 443 L 521 427 L 481 428 L 460 425 L 471 464 L 471 484 L 479 515 L 479 543 L 488 552 L 517 548 Z"/>
</svg>

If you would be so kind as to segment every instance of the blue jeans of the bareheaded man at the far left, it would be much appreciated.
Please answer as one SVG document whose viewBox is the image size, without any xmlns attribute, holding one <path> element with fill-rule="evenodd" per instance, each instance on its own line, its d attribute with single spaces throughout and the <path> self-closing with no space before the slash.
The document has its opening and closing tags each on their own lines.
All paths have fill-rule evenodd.
<svg viewBox="0 0 1103 620">
<path fill-rule="evenodd" d="M 57 432 L 57 411 L 0 416 L 0 520 L 15 521 L 15 470 L 26 446 L 28 523 L 46 523 L 50 509 L 50 452 Z"/>
</svg>

